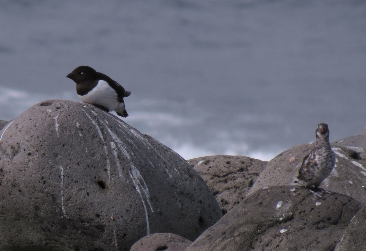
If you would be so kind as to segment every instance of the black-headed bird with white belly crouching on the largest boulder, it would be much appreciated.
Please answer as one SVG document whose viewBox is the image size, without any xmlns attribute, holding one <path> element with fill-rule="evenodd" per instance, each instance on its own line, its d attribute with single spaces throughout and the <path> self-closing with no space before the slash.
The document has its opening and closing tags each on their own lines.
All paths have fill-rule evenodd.
<svg viewBox="0 0 366 251">
<path fill-rule="evenodd" d="M 97 72 L 85 65 L 76 67 L 67 78 L 76 83 L 76 93 L 79 98 L 107 112 L 114 110 L 117 115 L 127 117 L 123 98 L 128 97 L 131 91 L 126 91 L 119 83 L 109 76 Z"/>
</svg>

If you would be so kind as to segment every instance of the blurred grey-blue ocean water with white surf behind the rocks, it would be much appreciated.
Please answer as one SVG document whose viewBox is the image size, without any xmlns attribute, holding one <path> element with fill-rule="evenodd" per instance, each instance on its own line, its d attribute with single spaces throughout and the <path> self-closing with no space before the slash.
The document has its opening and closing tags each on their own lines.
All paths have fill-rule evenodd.
<svg viewBox="0 0 366 251">
<path fill-rule="evenodd" d="M 0 119 L 79 101 L 89 65 L 132 91 L 124 121 L 183 158 L 270 160 L 366 126 L 366 1 L 1 1 Z"/>
</svg>

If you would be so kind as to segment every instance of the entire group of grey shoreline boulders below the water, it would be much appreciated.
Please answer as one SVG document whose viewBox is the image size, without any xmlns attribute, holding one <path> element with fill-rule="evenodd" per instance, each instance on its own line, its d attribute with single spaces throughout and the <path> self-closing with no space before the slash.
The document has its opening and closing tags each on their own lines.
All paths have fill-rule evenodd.
<svg viewBox="0 0 366 251">
<path fill-rule="evenodd" d="M 0 120 L 0 250 L 364 250 L 366 135 L 332 142 L 315 199 L 312 145 L 269 162 L 185 161 L 92 105 L 49 100 Z"/>
</svg>

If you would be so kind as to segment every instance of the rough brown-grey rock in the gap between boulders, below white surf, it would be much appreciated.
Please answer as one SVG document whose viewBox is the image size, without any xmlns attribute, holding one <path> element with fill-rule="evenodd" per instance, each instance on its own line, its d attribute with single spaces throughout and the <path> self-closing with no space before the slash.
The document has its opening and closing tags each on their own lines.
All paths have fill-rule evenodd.
<svg viewBox="0 0 366 251">
<path fill-rule="evenodd" d="M 194 158 L 188 163 L 205 180 L 225 214 L 245 198 L 268 162 L 217 155 Z"/>
</svg>

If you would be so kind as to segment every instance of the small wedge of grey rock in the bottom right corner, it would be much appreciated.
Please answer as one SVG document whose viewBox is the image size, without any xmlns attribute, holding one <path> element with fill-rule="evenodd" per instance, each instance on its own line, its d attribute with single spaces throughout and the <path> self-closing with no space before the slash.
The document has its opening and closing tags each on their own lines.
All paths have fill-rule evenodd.
<svg viewBox="0 0 366 251">
<path fill-rule="evenodd" d="M 335 251 L 365 250 L 366 248 L 366 208 L 358 211 L 347 226 L 341 241 Z"/>
</svg>

